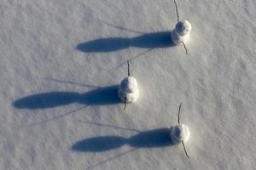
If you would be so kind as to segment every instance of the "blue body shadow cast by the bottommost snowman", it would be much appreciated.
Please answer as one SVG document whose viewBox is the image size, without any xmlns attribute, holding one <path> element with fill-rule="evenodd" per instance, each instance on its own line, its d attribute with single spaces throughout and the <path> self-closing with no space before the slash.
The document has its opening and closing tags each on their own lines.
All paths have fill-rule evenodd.
<svg viewBox="0 0 256 170">
<path fill-rule="evenodd" d="M 125 144 L 134 148 L 154 148 L 173 145 L 169 128 L 144 131 L 125 139 L 119 136 L 99 136 L 81 140 L 71 147 L 72 150 L 84 152 L 102 152 L 117 149 Z"/>
</svg>

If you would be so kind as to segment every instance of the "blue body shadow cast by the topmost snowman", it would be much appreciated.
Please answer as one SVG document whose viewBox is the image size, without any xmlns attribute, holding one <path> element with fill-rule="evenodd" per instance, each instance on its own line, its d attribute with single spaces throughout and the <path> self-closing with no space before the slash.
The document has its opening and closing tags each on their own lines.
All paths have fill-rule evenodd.
<svg viewBox="0 0 256 170">
<path fill-rule="evenodd" d="M 145 33 L 138 37 L 107 37 L 79 43 L 77 49 L 85 53 L 103 53 L 124 48 L 168 48 L 174 44 L 171 31 Z"/>
</svg>

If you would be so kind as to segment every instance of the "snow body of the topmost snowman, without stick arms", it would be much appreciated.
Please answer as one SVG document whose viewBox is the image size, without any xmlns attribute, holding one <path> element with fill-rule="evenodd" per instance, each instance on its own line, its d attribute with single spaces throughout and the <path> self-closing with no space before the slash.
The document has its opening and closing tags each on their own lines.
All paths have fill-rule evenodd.
<svg viewBox="0 0 256 170">
<path fill-rule="evenodd" d="M 177 22 L 175 29 L 172 31 L 172 42 L 174 44 L 180 44 L 181 42 L 188 42 L 190 31 L 192 29 L 188 20 L 181 20 Z"/>
</svg>

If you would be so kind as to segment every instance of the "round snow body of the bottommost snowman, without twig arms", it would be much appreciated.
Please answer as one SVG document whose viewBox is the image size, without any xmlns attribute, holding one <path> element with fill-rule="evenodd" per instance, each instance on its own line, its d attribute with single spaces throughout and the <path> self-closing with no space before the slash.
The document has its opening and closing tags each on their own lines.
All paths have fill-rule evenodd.
<svg viewBox="0 0 256 170">
<path fill-rule="evenodd" d="M 171 139 L 174 144 L 179 144 L 182 141 L 186 143 L 189 140 L 190 132 L 189 127 L 184 124 L 179 124 L 171 127 Z"/>
</svg>

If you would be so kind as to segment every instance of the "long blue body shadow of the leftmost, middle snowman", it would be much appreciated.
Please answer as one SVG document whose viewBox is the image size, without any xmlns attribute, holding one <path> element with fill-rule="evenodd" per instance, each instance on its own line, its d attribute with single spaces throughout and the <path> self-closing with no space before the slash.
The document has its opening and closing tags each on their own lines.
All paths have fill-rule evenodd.
<svg viewBox="0 0 256 170">
<path fill-rule="evenodd" d="M 74 92 L 49 92 L 32 94 L 13 103 L 17 109 L 46 109 L 79 103 L 83 105 L 113 105 L 121 103 L 117 95 L 118 85 L 96 88 L 84 94 Z"/>
</svg>

